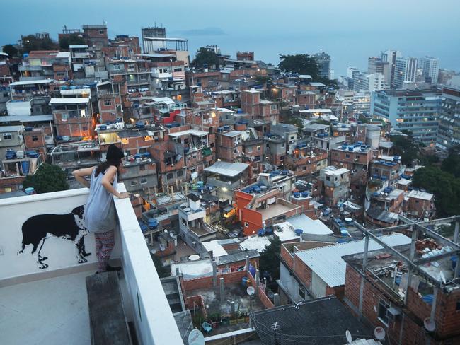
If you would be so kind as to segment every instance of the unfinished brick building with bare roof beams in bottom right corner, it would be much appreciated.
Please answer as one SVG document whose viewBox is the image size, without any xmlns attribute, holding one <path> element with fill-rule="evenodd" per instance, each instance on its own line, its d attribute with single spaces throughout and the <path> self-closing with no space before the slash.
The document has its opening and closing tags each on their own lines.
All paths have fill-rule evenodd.
<svg viewBox="0 0 460 345">
<path fill-rule="evenodd" d="M 343 257 L 347 263 L 344 302 L 372 327 L 383 327 L 386 338 L 394 343 L 460 341 L 460 289 L 455 283 L 458 270 L 450 258 L 453 252 L 443 255 L 443 251 L 436 249 L 448 246 L 458 255 L 460 247 L 427 229 L 429 224 L 406 224 L 406 230 L 413 229 L 412 245 L 384 245 L 380 250 L 369 247 L 364 254 Z M 372 240 L 381 239 L 363 231 Z M 404 230 L 399 226 L 398 231 Z M 436 251 L 432 252 L 433 249 Z M 427 252 L 432 253 L 426 257 Z"/>
</svg>

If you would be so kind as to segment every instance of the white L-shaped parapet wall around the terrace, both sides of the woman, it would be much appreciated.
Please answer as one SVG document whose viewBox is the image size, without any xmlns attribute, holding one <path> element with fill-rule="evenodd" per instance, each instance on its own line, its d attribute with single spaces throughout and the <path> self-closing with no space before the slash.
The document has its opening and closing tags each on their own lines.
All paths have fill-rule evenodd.
<svg viewBox="0 0 460 345">
<path fill-rule="evenodd" d="M 118 188 L 125 191 L 121 183 Z M 49 225 L 40 230 L 43 220 L 32 218 L 51 215 L 55 218 L 52 222 L 66 226 L 68 215 L 67 219 L 78 222 L 78 210 L 75 214 L 72 210 L 86 204 L 87 199 L 87 188 L 0 199 L 0 286 L 96 269 L 93 234 L 85 235 L 82 241 L 88 255 L 79 255 L 78 240 L 70 240 L 68 231 L 61 234 L 62 227 Z M 120 283 L 127 285 L 124 302 L 131 307 L 125 312 L 127 319 L 134 321 L 139 344 L 183 344 L 130 199 L 115 198 L 115 207 L 120 226 L 115 231 L 111 258 L 122 261 L 125 279 Z"/>
</svg>

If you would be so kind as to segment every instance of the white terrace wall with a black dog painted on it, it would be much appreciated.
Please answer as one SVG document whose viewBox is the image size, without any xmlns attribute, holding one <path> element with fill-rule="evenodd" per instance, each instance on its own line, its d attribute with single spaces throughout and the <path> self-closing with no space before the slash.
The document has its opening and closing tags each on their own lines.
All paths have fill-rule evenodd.
<svg viewBox="0 0 460 345">
<path fill-rule="evenodd" d="M 82 217 L 88 189 L 0 200 L 0 281 L 97 262 Z M 120 257 L 115 231 L 112 258 Z"/>
</svg>

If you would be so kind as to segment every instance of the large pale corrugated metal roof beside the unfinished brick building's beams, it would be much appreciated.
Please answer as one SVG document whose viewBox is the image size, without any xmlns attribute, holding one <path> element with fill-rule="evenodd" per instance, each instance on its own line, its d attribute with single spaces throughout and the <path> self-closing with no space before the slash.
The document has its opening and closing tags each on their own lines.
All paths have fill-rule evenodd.
<svg viewBox="0 0 460 345">
<path fill-rule="evenodd" d="M 391 247 L 408 245 L 410 238 L 402 233 L 381 236 L 382 241 Z M 374 240 L 369 240 L 369 251 L 382 249 Z M 296 252 L 296 255 L 310 267 L 328 286 L 345 284 L 346 263 L 342 257 L 364 252 L 364 240 L 329 245 L 310 250 Z"/>
</svg>

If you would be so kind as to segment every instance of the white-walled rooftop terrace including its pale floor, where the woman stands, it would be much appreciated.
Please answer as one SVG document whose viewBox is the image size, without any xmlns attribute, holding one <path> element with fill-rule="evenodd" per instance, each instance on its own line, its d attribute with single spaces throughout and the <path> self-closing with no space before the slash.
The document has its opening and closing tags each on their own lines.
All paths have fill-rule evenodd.
<svg viewBox="0 0 460 345">
<path fill-rule="evenodd" d="M 119 190 L 124 191 L 124 185 Z M 68 344 L 69 339 L 72 344 L 90 344 L 85 278 L 96 271 L 93 235 L 84 237 L 91 254 L 79 260 L 74 242 L 60 236 L 35 238 L 44 242 L 37 252 L 31 254 L 32 245 L 26 245 L 18 253 L 27 219 L 69 214 L 87 198 L 88 189 L 73 189 L 0 201 L 2 344 Z M 115 199 L 115 207 L 120 226 L 112 259 L 123 267 L 120 289 L 126 320 L 132 322 L 139 344 L 183 344 L 130 201 Z"/>
</svg>

